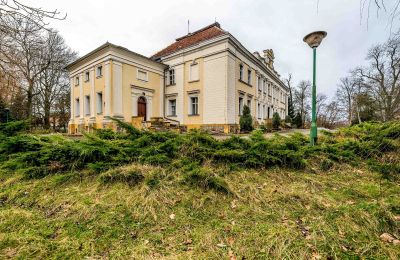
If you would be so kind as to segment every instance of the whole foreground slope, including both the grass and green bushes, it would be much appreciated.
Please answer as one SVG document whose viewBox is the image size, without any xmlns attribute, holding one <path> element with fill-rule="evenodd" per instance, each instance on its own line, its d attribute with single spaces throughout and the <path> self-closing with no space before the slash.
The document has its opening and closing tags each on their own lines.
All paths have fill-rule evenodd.
<svg viewBox="0 0 400 260">
<path fill-rule="evenodd" d="M 380 238 L 400 235 L 398 127 L 326 133 L 319 148 L 0 127 L 0 257 L 398 259 Z"/>
</svg>

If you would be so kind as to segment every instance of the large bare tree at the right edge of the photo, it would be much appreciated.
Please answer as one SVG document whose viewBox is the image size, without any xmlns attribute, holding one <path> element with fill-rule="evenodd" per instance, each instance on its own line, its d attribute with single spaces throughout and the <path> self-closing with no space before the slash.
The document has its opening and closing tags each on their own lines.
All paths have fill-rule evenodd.
<svg viewBox="0 0 400 260">
<path fill-rule="evenodd" d="M 400 113 L 400 34 L 373 46 L 367 61 L 369 66 L 355 73 L 376 101 L 382 120 L 392 120 Z"/>
</svg>

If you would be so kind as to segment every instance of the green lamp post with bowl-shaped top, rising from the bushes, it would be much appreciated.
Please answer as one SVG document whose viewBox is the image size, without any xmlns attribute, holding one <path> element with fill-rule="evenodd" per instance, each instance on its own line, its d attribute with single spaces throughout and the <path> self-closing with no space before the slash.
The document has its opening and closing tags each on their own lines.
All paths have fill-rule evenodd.
<svg viewBox="0 0 400 260">
<path fill-rule="evenodd" d="M 306 42 L 313 49 L 313 86 L 312 86 L 312 101 L 311 101 L 311 129 L 310 129 L 310 144 L 313 146 L 317 143 L 317 91 L 315 85 L 316 74 L 316 60 L 317 60 L 317 47 L 321 44 L 322 39 L 326 37 L 327 33 L 324 31 L 317 31 L 307 34 L 303 41 Z"/>
</svg>

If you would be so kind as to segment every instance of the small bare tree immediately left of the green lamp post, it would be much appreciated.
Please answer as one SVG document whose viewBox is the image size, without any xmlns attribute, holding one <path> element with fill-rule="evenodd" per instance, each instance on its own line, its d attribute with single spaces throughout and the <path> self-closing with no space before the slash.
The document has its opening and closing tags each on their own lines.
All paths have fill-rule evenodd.
<svg viewBox="0 0 400 260">
<path fill-rule="evenodd" d="M 302 119 L 302 127 L 304 127 L 304 122 L 306 121 L 307 113 L 310 111 L 311 97 L 311 82 L 302 80 L 294 91 L 295 109 L 300 113 Z"/>
</svg>

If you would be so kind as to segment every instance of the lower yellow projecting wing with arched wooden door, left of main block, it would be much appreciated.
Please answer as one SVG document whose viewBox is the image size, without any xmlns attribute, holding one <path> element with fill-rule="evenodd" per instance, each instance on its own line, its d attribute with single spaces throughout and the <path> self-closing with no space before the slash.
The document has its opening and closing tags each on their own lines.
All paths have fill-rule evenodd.
<svg viewBox="0 0 400 260">
<path fill-rule="evenodd" d="M 106 43 L 67 66 L 70 73 L 69 133 L 163 116 L 166 66 Z M 140 120 L 139 120 L 140 121 Z"/>
</svg>

